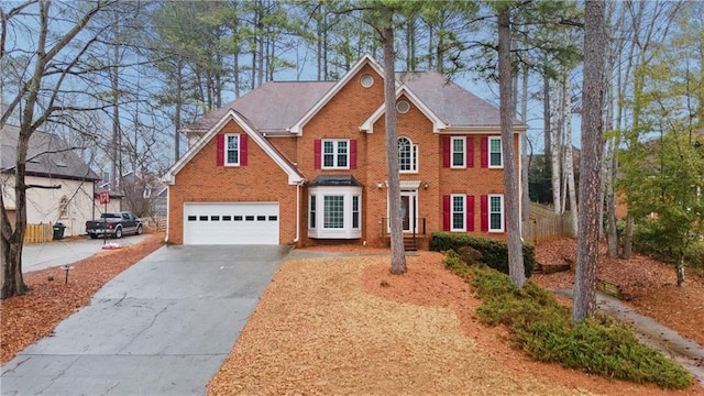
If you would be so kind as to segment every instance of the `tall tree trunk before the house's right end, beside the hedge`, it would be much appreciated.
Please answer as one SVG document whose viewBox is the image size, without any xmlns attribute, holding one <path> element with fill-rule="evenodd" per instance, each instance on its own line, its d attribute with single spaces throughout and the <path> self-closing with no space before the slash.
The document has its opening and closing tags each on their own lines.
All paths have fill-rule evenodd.
<svg viewBox="0 0 704 396">
<path fill-rule="evenodd" d="M 504 155 L 504 210 L 508 243 L 508 273 L 518 287 L 526 283 L 522 243 L 520 241 L 520 212 L 518 211 L 518 182 L 516 150 L 514 146 L 514 110 L 512 108 L 510 69 L 510 8 L 498 12 L 498 91 Z"/>
</svg>

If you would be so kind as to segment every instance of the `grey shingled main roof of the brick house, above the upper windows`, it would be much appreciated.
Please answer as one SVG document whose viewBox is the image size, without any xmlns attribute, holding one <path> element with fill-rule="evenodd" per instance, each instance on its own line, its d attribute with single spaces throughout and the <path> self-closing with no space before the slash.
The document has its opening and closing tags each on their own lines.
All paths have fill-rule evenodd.
<svg viewBox="0 0 704 396">
<path fill-rule="evenodd" d="M 230 110 L 234 110 L 255 127 L 258 132 L 285 132 L 300 135 L 304 125 L 330 101 L 365 65 L 370 65 L 383 78 L 383 68 L 370 56 L 362 57 L 339 81 L 275 81 L 235 99 L 195 121 L 183 131 L 205 132 Z M 402 89 L 414 105 L 430 118 L 436 132 L 501 129 L 499 109 L 449 81 L 437 72 L 396 73 L 397 97 Z M 272 111 L 275 109 L 275 111 Z M 374 113 L 376 118 L 383 113 Z M 373 114 L 370 114 L 372 119 Z M 367 120 L 370 121 L 370 120 Z M 361 125 L 369 130 L 367 125 Z M 514 121 L 515 130 L 527 127 Z"/>
</svg>

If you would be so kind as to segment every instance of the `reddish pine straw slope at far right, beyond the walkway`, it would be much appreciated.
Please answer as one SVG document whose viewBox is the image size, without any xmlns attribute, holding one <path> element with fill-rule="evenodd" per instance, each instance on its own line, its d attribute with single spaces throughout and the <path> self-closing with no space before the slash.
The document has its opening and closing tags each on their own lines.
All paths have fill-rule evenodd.
<svg viewBox="0 0 704 396">
<path fill-rule="evenodd" d="M 536 248 L 536 260 L 543 264 L 576 261 L 576 241 L 561 239 Z M 606 245 L 600 250 L 598 277 L 622 287 L 627 302 L 638 312 L 654 318 L 680 334 L 704 345 L 704 277 L 700 271 L 688 271 L 685 286 L 676 286 L 674 267 L 641 254 L 630 260 L 606 257 Z M 548 288 L 574 286 L 574 273 L 535 274 L 532 280 Z"/>
</svg>

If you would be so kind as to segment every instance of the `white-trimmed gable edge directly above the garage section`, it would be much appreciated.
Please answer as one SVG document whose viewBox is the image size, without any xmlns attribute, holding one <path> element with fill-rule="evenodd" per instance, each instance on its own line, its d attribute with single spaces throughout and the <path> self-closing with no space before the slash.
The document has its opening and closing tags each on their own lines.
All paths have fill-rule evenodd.
<svg viewBox="0 0 704 396">
<path fill-rule="evenodd" d="M 276 150 L 266 138 L 262 136 L 261 133 L 256 131 L 256 128 L 244 116 L 240 114 L 238 111 L 233 109 L 229 109 L 216 124 L 210 127 L 210 129 L 206 132 L 206 134 L 200 138 L 196 144 L 188 150 L 186 155 L 184 155 L 164 175 L 162 178 L 165 183 L 173 185 L 175 182 L 176 174 L 183 169 L 183 167 L 198 153 L 202 147 L 212 140 L 215 135 L 220 132 L 220 130 L 230 121 L 237 122 L 244 132 L 252 138 L 254 141 L 268 156 L 274 160 L 274 162 L 288 175 L 288 184 L 296 185 L 305 182 L 304 176 L 296 169 L 296 167 L 288 162 L 279 152 Z"/>
</svg>

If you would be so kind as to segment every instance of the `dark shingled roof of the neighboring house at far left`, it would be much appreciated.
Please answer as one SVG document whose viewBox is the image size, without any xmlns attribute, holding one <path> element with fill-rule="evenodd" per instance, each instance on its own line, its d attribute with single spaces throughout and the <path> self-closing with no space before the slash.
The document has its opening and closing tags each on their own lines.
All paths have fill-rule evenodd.
<svg viewBox="0 0 704 396">
<path fill-rule="evenodd" d="M 20 128 L 4 125 L 0 130 L 0 170 L 6 173 L 16 165 L 16 144 Z M 30 138 L 26 154 L 26 175 L 73 180 L 99 180 L 92 169 L 58 135 L 35 131 Z"/>
</svg>

